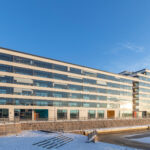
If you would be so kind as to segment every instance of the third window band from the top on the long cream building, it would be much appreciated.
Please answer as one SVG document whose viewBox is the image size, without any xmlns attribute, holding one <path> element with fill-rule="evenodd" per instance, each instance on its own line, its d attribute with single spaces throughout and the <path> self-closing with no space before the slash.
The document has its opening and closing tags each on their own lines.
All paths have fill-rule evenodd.
<svg viewBox="0 0 150 150">
<path fill-rule="evenodd" d="M 19 80 L 17 80 L 17 78 L 14 78 L 14 77 L 3 76 L 3 77 L 0 77 L 0 82 L 38 86 L 38 87 L 57 88 L 57 89 L 69 89 L 69 90 L 75 90 L 75 91 L 110 93 L 110 94 L 117 94 L 117 95 L 130 95 L 132 92 L 132 91 L 126 92 L 126 91 L 119 91 L 119 90 L 109 90 L 105 88 L 95 88 L 95 87 L 80 86 L 80 85 L 73 85 L 73 84 L 62 84 L 62 83 L 55 83 L 55 82 L 50 82 L 50 81 L 41 81 L 41 80 L 32 80 L 32 79 L 27 80 L 25 78 L 18 78 L 18 79 Z M 114 84 L 114 83 L 108 83 L 108 87 L 109 87 L 109 84 Z"/>
</svg>

